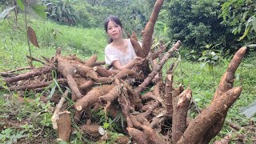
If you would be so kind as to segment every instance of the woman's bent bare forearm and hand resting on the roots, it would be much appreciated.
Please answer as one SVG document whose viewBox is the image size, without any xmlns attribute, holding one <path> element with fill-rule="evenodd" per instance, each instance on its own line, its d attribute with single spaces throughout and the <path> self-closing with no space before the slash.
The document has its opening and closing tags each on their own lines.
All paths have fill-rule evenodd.
<svg viewBox="0 0 256 144">
<path fill-rule="evenodd" d="M 112 66 L 114 66 L 114 68 L 117 70 L 124 70 L 124 69 L 131 69 L 135 65 L 141 65 L 143 62 L 144 62 L 144 58 L 135 57 L 132 61 L 130 61 L 124 66 L 122 66 L 119 60 L 115 60 L 114 62 L 112 62 Z"/>
</svg>

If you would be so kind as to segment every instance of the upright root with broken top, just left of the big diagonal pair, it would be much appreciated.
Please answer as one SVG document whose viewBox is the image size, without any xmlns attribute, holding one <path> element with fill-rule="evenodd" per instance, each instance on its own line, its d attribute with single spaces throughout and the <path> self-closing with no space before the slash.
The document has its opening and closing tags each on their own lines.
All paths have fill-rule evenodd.
<svg viewBox="0 0 256 144">
<path fill-rule="evenodd" d="M 189 110 L 190 100 L 192 97 L 192 91 L 190 89 L 184 90 L 182 94 L 179 94 L 174 100 L 174 114 L 172 122 L 172 142 L 178 142 L 179 138 L 186 130 L 186 117 Z"/>
</svg>

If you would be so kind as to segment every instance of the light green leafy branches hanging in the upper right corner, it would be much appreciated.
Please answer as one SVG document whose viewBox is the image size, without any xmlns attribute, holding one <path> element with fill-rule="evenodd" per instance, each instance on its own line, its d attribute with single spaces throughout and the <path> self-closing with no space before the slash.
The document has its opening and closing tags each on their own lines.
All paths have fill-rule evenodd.
<svg viewBox="0 0 256 144">
<path fill-rule="evenodd" d="M 242 34 L 239 40 L 254 40 L 256 32 L 256 4 L 252 0 L 228 0 L 222 4 L 223 22 L 233 27 L 233 34 Z M 254 41 L 255 42 L 255 41 Z"/>
</svg>

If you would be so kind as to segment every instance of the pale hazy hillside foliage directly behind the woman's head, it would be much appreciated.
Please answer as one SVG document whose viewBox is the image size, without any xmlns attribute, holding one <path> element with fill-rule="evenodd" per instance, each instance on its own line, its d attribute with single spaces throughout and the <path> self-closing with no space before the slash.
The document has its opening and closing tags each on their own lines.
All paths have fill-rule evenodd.
<svg viewBox="0 0 256 144">
<path fill-rule="evenodd" d="M 152 5 L 154 6 L 154 2 L 146 0 L 87 0 L 87 2 L 88 4 L 78 1 L 75 7 L 80 15 L 83 14 L 88 18 L 89 26 L 103 27 L 102 22 L 110 15 L 115 15 L 121 19 L 126 32 L 131 33 L 134 30 L 137 34 L 143 30 L 152 12 Z"/>
</svg>

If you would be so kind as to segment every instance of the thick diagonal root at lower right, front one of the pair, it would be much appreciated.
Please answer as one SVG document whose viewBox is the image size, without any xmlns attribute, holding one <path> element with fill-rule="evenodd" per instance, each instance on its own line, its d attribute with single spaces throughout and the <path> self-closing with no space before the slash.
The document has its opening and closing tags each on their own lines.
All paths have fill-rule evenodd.
<svg viewBox="0 0 256 144">
<path fill-rule="evenodd" d="M 210 103 L 210 106 L 190 122 L 190 125 L 186 128 L 178 143 L 200 142 L 202 135 L 206 134 L 211 126 L 229 110 L 230 106 L 241 94 L 241 91 L 241 87 L 234 87 L 214 99 L 214 101 Z"/>
</svg>

